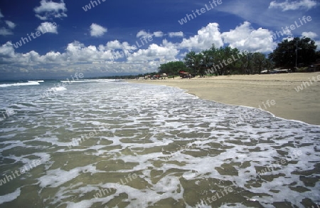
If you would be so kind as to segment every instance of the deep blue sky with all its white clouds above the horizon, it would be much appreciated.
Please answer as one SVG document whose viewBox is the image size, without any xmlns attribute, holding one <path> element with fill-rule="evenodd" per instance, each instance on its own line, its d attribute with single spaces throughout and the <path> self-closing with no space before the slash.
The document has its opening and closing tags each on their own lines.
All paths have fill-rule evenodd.
<svg viewBox="0 0 320 208">
<path fill-rule="evenodd" d="M 308 36 L 320 48 L 319 8 L 316 0 L 1 0 L 0 79 L 153 72 L 213 43 L 268 54 L 284 38 Z"/>
</svg>

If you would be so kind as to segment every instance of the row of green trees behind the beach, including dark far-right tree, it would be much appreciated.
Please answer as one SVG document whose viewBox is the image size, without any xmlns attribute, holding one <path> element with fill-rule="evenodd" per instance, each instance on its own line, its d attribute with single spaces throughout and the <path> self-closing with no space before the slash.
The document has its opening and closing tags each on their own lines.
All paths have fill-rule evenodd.
<svg viewBox="0 0 320 208">
<path fill-rule="evenodd" d="M 311 38 L 293 38 L 277 44 L 277 48 L 267 56 L 259 52 L 239 51 L 230 46 L 216 48 L 196 53 L 190 51 L 183 61 L 171 61 L 159 66 L 159 73 L 178 75 L 185 71 L 194 76 L 256 74 L 270 71 L 272 68 L 288 68 L 296 71 L 298 66 L 310 66 L 320 58 L 316 51 L 315 41 Z"/>
</svg>

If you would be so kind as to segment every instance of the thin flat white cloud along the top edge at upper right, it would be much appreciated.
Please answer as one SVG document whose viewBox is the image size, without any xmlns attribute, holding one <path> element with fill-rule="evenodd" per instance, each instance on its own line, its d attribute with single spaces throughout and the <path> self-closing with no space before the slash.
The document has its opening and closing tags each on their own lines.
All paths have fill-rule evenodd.
<svg viewBox="0 0 320 208">
<path fill-rule="evenodd" d="M 282 11 L 306 9 L 306 11 L 308 11 L 309 9 L 316 7 L 316 5 L 317 5 L 316 1 L 313 1 L 313 0 L 301 0 L 301 1 L 292 1 L 292 2 L 289 2 L 288 0 L 286 0 L 282 3 L 277 3 L 277 1 L 271 1 L 269 9 L 279 8 L 279 9 L 282 9 Z"/>
</svg>

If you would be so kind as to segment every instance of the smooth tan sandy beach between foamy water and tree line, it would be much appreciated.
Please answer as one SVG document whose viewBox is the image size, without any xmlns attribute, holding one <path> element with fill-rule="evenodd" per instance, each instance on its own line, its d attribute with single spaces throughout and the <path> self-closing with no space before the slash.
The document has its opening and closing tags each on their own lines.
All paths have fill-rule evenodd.
<svg viewBox="0 0 320 208">
<path fill-rule="evenodd" d="M 320 125 L 320 73 L 127 81 L 177 87 L 202 99 L 261 107 L 280 118 Z"/>
</svg>

